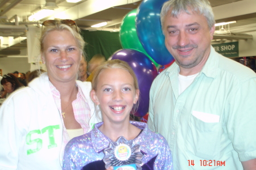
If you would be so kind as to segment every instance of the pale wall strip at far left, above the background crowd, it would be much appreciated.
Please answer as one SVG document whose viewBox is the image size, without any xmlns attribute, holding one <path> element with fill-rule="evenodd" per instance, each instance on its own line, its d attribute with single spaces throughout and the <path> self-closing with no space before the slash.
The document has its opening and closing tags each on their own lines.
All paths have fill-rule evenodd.
<svg viewBox="0 0 256 170">
<path fill-rule="evenodd" d="M 19 73 L 26 73 L 30 70 L 30 63 L 27 57 L 2 57 L 0 58 L 0 69 L 3 75 L 19 71 Z"/>
</svg>

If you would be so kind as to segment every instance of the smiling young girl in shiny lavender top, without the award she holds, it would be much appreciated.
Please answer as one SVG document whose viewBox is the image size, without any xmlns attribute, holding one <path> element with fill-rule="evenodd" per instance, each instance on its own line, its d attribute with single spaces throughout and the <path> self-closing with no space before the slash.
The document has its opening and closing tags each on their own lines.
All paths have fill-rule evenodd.
<svg viewBox="0 0 256 170">
<path fill-rule="evenodd" d="M 114 59 L 99 66 L 94 73 L 90 96 L 96 105 L 100 105 L 103 122 L 68 143 L 63 169 L 105 170 L 104 149 L 121 136 L 140 146 L 143 170 L 172 169 L 166 139 L 149 130 L 143 122 L 129 121 L 130 112 L 138 106 L 139 87 L 126 62 Z"/>
</svg>

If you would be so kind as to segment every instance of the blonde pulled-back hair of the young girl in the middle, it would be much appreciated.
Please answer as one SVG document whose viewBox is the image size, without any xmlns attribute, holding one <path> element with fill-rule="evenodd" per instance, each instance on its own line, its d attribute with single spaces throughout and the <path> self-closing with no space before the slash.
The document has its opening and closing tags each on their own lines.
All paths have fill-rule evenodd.
<svg viewBox="0 0 256 170">
<path fill-rule="evenodd" d="M 94 91 L 97 91 L 98 75 L 105 69 L 126 70 L 133 77 L 133 80 L 134 80 L 133 85 L 134 85 L 135 90 L 139 90 L 139 84 L 138 84 L 137 77 L 136 77 L 133 69 L 131 69 L 131 67 L 128 65 L 128 63 L 125 61 L 121 61 L 120 59 L 113 59 L 113 60 L 105 61 L 100 66 L 98 66 L 97 69 L 94 71 L 94 75 L 93 75 L 93 79 L 92 79 L 92 89 Z M 139 105 L 139 100 L 137 101 L 136 104 L 134 104 L 133 109 L 131 111 L 132 114 L 134 114 L 137 111 L 138 105 Z"/>
</svg>

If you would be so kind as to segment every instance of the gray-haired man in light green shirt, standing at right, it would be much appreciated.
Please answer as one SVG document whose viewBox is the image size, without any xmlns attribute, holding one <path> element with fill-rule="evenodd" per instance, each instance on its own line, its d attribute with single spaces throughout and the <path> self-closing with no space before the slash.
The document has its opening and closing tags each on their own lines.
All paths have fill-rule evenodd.
<svg viewBox="0 0 256 170">
<path fill-rule="evenodd" d="M 152 83 L 148 126 L 174 169 L 256 169 L 256 74 L 214 51 L 208 0 L 167 1 L 160 17 L 175 63 Z"/>
</svg>

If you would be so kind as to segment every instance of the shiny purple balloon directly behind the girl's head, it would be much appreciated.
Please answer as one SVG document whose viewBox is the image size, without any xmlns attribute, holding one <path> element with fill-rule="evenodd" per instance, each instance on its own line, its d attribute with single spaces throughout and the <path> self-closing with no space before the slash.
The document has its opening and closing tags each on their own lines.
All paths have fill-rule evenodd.
<svg viewBox="0 0 256 170">
<path fill-rule="evenodd" d="M 143 117 L 148 112 L 151 84 L 158 75 L 154 63 L 144 53 L 134 49 L 118 50 L 109 59 L 126 61 L 133 69 L 138 79 L 140 91 L 139 108 L 135 116 Z"/>
</svg>

